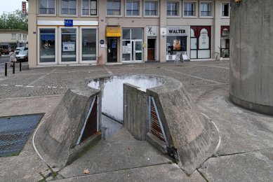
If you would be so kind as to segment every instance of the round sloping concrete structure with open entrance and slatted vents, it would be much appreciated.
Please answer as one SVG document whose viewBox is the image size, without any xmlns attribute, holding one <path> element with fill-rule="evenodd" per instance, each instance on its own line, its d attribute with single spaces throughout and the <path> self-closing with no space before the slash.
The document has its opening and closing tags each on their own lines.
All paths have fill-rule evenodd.
<svg viewBox="0 0 273 182">
<path fill-rule="evenodd" d="M 218 142 L 213 125 L 179 80 L 108 75 L 88 78 L 67 90 L 41 125 L 37 137 L 41 153 L 59 167 L 69 165 L 103 138 L 102 115 L 124 123 L 135 139 L 148 141 L 189 174 L 213 155 Z"/>
</svg>

